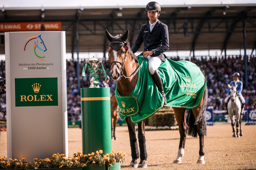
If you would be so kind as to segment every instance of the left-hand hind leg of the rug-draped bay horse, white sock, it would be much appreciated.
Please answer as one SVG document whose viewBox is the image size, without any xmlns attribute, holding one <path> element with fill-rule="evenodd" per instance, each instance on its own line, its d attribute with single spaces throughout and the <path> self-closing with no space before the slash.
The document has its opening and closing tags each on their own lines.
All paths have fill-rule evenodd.
<svg viewBox="0 0 256 170">
<path fill-rule="evenodd" d="M 179 133 L 180 133 L 180 143 L 179 143 L 179 150 L 177 153 L 177 157 L 173 161 L 173 163 L 181 164 L 181 158 L 184 156 L 184 148 L 185 148 L 185 141 L 187 136 L 187 127 L 186 127 L 186 118 L 185 118 L 185 108 L 173 108 L 174 115 L 176 121 L 179 125 Z"/>
</svg>

